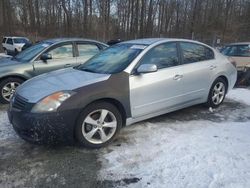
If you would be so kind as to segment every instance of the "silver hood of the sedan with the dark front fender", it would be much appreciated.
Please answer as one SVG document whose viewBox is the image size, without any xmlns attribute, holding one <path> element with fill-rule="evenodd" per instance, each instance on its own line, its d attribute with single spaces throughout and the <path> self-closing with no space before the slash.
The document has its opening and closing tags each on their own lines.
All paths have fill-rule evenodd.
<svg viewBox="0 0 250 188">
<path fill-rule="evenodd" d="M 79 87 L 107 80 L 109 74 L 85 72 L 74 68 L 46 73 L 26 81 L 17 88 L 16 93 L 36 103 L 42 98 L 58 91 L 75 90 Z"/>
</svg>

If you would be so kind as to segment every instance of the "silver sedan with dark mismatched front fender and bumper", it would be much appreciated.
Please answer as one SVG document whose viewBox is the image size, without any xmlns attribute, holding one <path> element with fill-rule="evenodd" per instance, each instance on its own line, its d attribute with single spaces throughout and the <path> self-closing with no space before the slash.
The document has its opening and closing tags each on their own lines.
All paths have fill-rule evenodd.
<svg viewBox="0 0 250 188">
<path fill-rule="evenodd" d="M 80 66 L 26 81 L 8 115 L 27 141 L 98 148 L 125 125 L 199 103 L 218 107 L 236 76 L 226 57 L 200 42 L 127 41 Z"/>
</svg>

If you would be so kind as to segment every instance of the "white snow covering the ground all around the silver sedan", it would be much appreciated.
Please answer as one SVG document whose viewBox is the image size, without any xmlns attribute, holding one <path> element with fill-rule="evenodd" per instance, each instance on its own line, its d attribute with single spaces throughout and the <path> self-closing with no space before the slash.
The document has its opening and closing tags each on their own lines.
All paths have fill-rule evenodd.
<svg viewBox="0 0 250 188">
<path fill-rule="evenodd" d="M 99 180 L 106 187 L 250 187 L 249 96 L 250 90 L 234 89 L 227 99 L 241 104 L 226 101 L 213 112 L 192 107 L 188 114 L 184 110 L 173 113 L 170 119 L 166 115 L 124 128 L 118 140 L 98 151 L 102 164 Z M 5 111 L 6 107 L 0 107 L 1 160 L 16 160 L 15 167 L 24 161 L 19 164 L 20 168 L 31 167 L 25 173 L 10 171 L 12 175 L 6 174 L 6 167 L 0 184 L 8 187 L 9 182 L 15 180 L 15 185 L 21 186 L 23 176 L 27 181 L 33 177 L 44 180 L 48 176 L 43 178 L 44 167 L 39 166 L 43 163 L 36 163 L 37 159 L 32 161 L 29 155 L 21 160 L 24 153 L 36 153 L 37 150 L 19 139 Z M 46 150 L 38 156 L 44 153 Z M 46 158 L 48 160 L 51 159 Z M 82 169 L 80 172 L 83 173 Z"/>
</svg>

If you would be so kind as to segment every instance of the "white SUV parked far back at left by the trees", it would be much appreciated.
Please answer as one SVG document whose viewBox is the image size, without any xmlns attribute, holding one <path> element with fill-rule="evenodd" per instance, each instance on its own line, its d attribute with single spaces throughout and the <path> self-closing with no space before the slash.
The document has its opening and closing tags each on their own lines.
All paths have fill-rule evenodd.
<svg viewBox="0 0 250 188">
<path fill-rule="evenodd" d="M 4 37 L 2 41 L 5 54 L 17 54 L 23 50 L 25 45 L 29 44 L 29 39 L 25 37 Z"/>
</svg>

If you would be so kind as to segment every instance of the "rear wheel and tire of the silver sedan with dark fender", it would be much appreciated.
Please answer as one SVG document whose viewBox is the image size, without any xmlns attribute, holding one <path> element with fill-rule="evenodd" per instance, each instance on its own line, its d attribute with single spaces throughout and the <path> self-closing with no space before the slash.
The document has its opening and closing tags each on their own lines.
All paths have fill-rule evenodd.
<svg viewBox="0 0 250 188">
<path fill-rule="evenodd" d="M 227 82 L 223 78 L 217 78 L 210 88 L 206 106 L 218 108 L 224 101 L 227 92 Z"/>
</svg>

